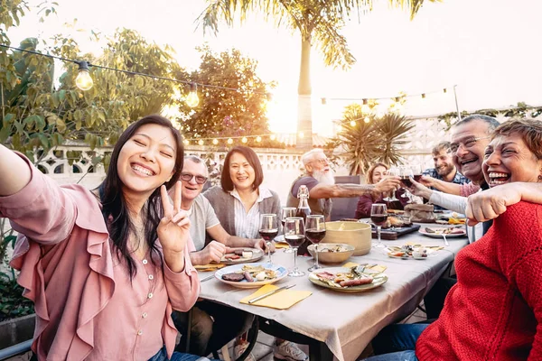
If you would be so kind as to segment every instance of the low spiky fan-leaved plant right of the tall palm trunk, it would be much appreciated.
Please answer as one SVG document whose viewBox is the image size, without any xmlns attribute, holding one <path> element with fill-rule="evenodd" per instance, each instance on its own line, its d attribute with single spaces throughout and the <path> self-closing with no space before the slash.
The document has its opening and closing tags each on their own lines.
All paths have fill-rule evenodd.
<svg viewBox="0 0 542 361">
<path fill-rule="evenodd" d="M 365 122 L 367 117 L 369 123 Z M 364 114 L 358 104 L 346 106 L 340 125 L 332 145 L 341 150 L 339 154 L 350 165 L 350 174 L 365 174 L 374 162 L 402 162 L 401 147 L 415 126 L 412 120 L 394 113 L 382 117 Z"/>
</svg>

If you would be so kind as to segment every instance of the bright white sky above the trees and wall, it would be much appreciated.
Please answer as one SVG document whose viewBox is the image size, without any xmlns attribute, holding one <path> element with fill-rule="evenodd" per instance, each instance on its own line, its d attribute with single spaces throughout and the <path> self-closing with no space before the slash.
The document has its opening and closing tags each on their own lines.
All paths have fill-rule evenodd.
<svg viewBox="0 0 542 361">
<path fill-rule="evenodd" d="M 277 29 L 255 14 L 246 23 L 220 26 L 217 36 L 204 34 L 195 20 L 204 0 L 56 0 L 58 14 L 44 23 L 31 11 L 21 26 L 9 32 L 13 44 L 23 38 L 49 38 L 58 32 L 71 34 L 83 52 L 98 53 L 100 45 L 89 42 L 90 30 L 113 34 L 126 27 L 148 41 L 169 44 L 179 63 L 196 69 L 195 48 L 204 42 L 214 51 L 237 48 L 258 60 L 258 75 L 275 80 L 269 124 L 274 132 L 291 132 L 297 119 L 297 80 L 301 40 L 296 32 Z M 29 0 L 31 6 L 42 0 Z M 406 10 L 375 0 L 372 13 L 357 16 L 341 30 L 357 62 L 349 70 L 326 68 L 313 49 L 313 131 L 332 134 L 333 120 L 351 101 L 321 98 L 396 97 L 409 95 L 406 116 L 439 115 L 455 111 L 456 85 L 460 110 L 500 108 L 524 101 L 542 105 L 540 30 L 542 14 L 537 0 L 443 0 L 426 3 L 413 21 Z M 64 26 L 73 23 L 74 27 Z M 444 93 L 443 88 L 449 91 Z"/>
</svg>

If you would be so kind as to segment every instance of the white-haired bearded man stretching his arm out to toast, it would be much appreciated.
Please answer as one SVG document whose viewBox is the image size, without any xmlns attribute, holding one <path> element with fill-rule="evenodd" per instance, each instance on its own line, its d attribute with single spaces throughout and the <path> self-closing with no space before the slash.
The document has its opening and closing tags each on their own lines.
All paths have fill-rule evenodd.
<svg viewBox="0 0 542 361">
<path fill-rule="evenodd" d="M 321 214 L 330 220 L 332 214 L 332 198 L 360 197 L 365 194 L 398 190 L 401 183 L 398 177 L 388 177 L 377 184 L 335 184 L 333 171 L 322 149 L 314 148 L 301 157 L 305 173 L 294 180 L 288 192 L 287 207 L 297 207 L 297 190 L 302 185 L 309 190 L 309 207 L 312 214 Z"/>
</svg>

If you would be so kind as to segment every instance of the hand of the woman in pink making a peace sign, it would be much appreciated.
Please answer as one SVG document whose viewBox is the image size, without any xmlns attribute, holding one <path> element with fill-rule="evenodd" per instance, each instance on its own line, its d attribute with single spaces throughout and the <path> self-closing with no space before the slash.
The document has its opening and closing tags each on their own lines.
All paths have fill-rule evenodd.
<svg viewBox="0 0 542 361">
<path fill-rule="evenodd" d="M 184 268 L 183 253 L 190 236 L 190 219 L 188 213 L 181 209 L 181 191 L 181 181 L 177 181 L 173 186 L 172 205 L 165 186 L 160 187 L 164 218 L 160 220 L 157 233 L 164 249 L 164 259 L 173 272 L 179 272 L 173 268 L 179 268 L 178 266 L 181 264 L 178 262 L 180 261 L 182 261 L 181 268 Z"/>
</svg>

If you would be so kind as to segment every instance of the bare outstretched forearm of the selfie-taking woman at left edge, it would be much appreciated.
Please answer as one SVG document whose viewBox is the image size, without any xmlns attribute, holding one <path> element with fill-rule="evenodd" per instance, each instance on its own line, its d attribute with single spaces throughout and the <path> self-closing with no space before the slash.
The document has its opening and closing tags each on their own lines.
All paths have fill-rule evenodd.
<svg viewBox="0 0 542 361">
<path fill-rule="evenodd" d="M 30 182 L 31 174 L 20 156 L 0 144 L 0 197 L 22 190 Z"/>
</svg>

